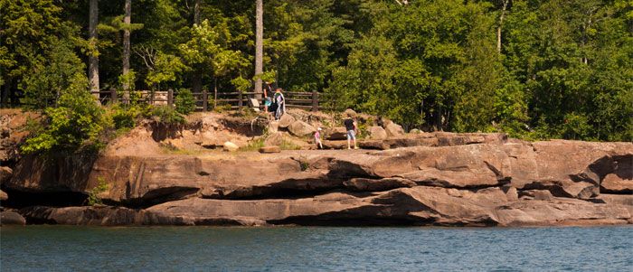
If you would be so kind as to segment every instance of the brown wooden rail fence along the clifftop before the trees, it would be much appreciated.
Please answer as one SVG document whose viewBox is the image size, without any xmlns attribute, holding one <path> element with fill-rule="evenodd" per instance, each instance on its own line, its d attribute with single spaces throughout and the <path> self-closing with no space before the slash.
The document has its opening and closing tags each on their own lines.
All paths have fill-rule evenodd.
<svg viewBox="0 0 633 272">
<path fill-rule="evenodd" d="M 140 90 L 138 92 L 140 93 L 140 101 L 144 101 L 152 105 L 173 106 L 175 96 L 177 96 L 173 89 L 156 90 L 154 92 L 149 90 Z M 115 89 L 93 91 L 92 94 L 99 94 L 99 100 L 102 105 L 113 102 L 128 103 L 130 101 L 130 98 L 121 97 Z M 286 101 L 286 108 L 303 108 L 312 111 L 319 110 L 319 95 L 316 91 L 286 91 L 283 92 L 283 94 Z M 202 92 L 194 92 L 193 95 L 196 110 L 201 111 L 208 111 L 222 105 L 230 105 L 231 109 L 241 109 L 243 107 L 251 108 L 253 105 L 250 103 L 250 98 L 257 99 L 259 103 L 258 107 L 260 109 L 264 107 L 261 94 L 255 92 L 209 92 L 206 89 L 203 89 Z"/>
</svg>

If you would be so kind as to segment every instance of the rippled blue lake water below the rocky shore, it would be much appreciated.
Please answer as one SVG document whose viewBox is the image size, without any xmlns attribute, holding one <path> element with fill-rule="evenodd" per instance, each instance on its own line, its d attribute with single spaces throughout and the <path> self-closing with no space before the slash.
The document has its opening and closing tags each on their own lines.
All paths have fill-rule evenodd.
<svg viewBox="0 0 633 272">
<path fill-rule="evenodd" d="M 633 227 L 5 226 L 2 271 L 632 271 Z"/>
</svg>

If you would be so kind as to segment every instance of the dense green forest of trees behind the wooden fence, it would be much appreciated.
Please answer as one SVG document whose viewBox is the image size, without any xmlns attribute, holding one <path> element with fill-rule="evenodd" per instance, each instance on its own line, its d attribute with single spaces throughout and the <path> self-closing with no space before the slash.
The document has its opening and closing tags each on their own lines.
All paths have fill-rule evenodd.
<svg viewBox="0 0 633 272">
<path fill-rule="evenodd" d="M 0 0 L 2 102 L 49 117 L 34 149 L 102 130 L 81 100 L 91 88 L 177 95 L 258 79 L 408 129 L 633 141 L 633 1 L 265 0 L 258 75 L 255 14 L 243 0 Z M 79 142 L 51 139 L 71 126 L 55 117 L 86 127 Z"/>
</svg>

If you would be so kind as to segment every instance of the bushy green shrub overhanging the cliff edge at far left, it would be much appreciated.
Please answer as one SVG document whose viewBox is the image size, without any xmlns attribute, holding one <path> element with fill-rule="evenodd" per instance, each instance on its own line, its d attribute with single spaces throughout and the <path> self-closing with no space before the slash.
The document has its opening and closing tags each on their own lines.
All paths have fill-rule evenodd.
<svg viewBox="0 0 633 272">
<path fill-rule="evenodd" d="M 103 108 L 88 92 L 88 80 L 76 75 L 69 89 L 64 89 L 56 108 L 45 108 L 45 128 L 26 140 L 24 153 L 53 150 L 76 150 L 82 145 L 96 145 L 104 127 Z"/>
</svg>

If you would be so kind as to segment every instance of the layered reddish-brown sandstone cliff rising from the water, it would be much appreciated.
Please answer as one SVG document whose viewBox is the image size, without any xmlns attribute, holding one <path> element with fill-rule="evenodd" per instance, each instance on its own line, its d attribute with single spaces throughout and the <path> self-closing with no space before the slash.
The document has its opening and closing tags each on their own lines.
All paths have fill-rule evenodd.
<svg viewBox="0 0 633 272">
<path fill-rule="evenodd" d="M 422 146 L 103 155 L 94 163 L 26 158 L 5 187 L 88 193 L 100 181 L 109 184 L 100 197 L 115 207 L 20 211 L 33 222 L 61 224 L 633 223 L 631 143 L 528 143 L 502 135 L 445 133 L 402 139 Z"/>
</svg>

